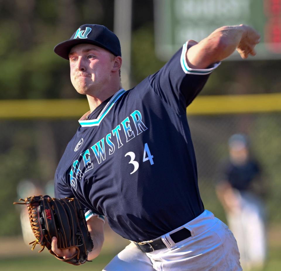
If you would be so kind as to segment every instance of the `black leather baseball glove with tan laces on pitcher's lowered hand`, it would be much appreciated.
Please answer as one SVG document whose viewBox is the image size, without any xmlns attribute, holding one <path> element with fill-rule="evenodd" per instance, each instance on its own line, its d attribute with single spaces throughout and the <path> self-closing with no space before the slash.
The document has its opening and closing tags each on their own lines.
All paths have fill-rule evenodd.
<svg viewBox="0 0 281 271">
<path fill-rule="evenodd" d="M 93 242 L 88 231 L 84 212 L 76 198 L 51 198 L 45 196 L 32 196 L 14 204 L 26 204 L 28 208 L 31 229 L 36 240 L 32 250 L 40 244 L 41 252 L 45 246 L 57 259 L 80 265 L 87 262 L 88 253 L 92 251 Z M 58 248 L 76 248 L 76 254 L 71 258 L 58 257 L 52 251 L 52 237 L 58 240 Z"/>
</svg>

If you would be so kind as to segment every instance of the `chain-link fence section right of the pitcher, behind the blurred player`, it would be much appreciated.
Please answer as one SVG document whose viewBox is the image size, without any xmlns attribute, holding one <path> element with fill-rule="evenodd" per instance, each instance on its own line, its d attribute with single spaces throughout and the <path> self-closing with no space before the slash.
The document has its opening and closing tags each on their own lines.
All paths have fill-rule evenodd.
<svg viewBox="0 0 281 271">
<path fill-rule="evenodd" d="M 249 137 L 251 156 L 261 165 L 269 222 L 280 222 L 277 206 L 281 203 L 281 114 L 189 116 L 188 119 L 205 208 L 225 221 L 215 185 L 221 181 L 222 165 L 228 159 L 229 137 L 234 133 L 244 133 Z"/>
</svg>

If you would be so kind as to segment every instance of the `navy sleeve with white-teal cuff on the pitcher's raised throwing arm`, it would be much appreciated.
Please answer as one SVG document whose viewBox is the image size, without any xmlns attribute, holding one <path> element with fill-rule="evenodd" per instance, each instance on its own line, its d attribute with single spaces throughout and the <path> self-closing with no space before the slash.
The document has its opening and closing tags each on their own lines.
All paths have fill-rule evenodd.
<svg viewBox="0 0 281 271">
<path fill-rule="evenodd" d="M 158 72 L 148 77 L 153 90 L 178 114 L 186 113 L 186 107 L 202 90 L 210 73 L 220 65 L 218 62 L 206 69 L 189 68 L 186 52 L 196 43 L 187 41 Z"/>
</svg>

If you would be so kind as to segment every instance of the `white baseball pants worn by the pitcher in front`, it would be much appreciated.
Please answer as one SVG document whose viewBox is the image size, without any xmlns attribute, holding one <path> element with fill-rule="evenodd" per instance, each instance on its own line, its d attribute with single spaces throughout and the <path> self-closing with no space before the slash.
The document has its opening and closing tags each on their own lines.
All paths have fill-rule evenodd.
<svg viewBox="0 0 281 271">
<path fill-rule="evenodd" d="M 232 232 L 213 213 L 205 210 L 177 230 L 182 228 L 189 229 L 191 237 L 175 244 L 167 233 L 161 237 L 169 247 L 152 253 L 144 253 L 131 243 L 103 271 L 242 270 Z"/>
</svg>

